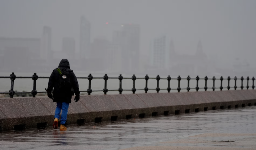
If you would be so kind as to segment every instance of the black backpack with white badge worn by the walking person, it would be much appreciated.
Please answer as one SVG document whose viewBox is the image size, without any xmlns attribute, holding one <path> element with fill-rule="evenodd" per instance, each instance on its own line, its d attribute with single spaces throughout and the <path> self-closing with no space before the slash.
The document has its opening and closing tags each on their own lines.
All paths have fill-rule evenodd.
<svg viewBox="0 0 256 150">
<path fill-rule="evenodd" d="M 58 68 L 57 68 L 58 69 Z M 59 88 L 61 91 L 69 93 L 71 92 L 71 79 L 68 69 L 63 68 L 61 74 L 59 74 Z"/>
</svg>

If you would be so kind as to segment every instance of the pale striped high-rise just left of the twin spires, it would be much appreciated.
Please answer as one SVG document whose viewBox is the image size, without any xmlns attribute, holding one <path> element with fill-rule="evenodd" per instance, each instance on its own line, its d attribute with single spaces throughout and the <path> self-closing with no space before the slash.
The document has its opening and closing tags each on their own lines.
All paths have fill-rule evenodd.
<svg viewBox="0 0 256 150">
<path fill-rule="evenodd" d="M 166 36 L 155 38 L 151 42 L 151 65 L 157 69 L 164 69 L 168 63 L 168 48 L 166 46 Z"/>
</svg>

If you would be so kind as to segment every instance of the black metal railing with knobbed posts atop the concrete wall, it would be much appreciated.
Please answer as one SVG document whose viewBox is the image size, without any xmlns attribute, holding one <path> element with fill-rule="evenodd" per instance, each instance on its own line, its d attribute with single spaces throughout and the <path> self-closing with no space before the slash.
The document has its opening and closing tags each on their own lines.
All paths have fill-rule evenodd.
<svg viewBox="0 0 256 150">
<path fill-rule="evenodd" d="M 0 92 L 0 94 L 9 94 L 10 95 L 10 98 L 13 98 L 13 95 L 14 94 L 32 94 L 33 97 L 36 97 L 37 93 L 46 93 L 46 91 L 41 91 L 41 92 L 37 92 L 36 90 L 36 80 L 39 79 L 39 78 L 49 78 L 49 77 L 38 77 L 36 73 L 34 73 L 31 77 L 16 77 L 16 75 L 14 74 L 14 72 L 12 72 L 12 74 L 10 74 L 10 76 L 6 76 L 6 77 L 0 77 L 0 78 L 10 78 L 11 80 L 11 88 L 10 88 L 10 91 L 9 92 Z M 14 91 L 14 80 L 16 78 L 32 78 L 33 79 L 33 90 L 31 92 L 15 92 Z M 119 77 L 108 77 L 107 74 L 105 74 L 103 77 L 93 77 L 91 74 L 89 74 L 88 77 L 77 77 L 77 79 L 88 79 L 89 80 L 89 86 L 88 86 L 88 89 L 86 91 L 80 91 L 80 92 L 87 92 L 88 95 L 91 95 L 92 92 L 104 92 L 104 94 L 107 94 L 108 91 L 119 91 L 119 94 L 122 94 L 123 91 L 132 91 L 133 94 L 135 94 L 136 91 L 138 90 L 144 90 L 145 93 L 148 92 L 148 90 L 156 90 L 157 93 L 160 91 L 160 87 L 159 87 L 159 81 L 160 79 L 165 79 L 168 81 L 168 86 L 165 90 L 167 90 L 168 92 L 170 92 L 171 90 L 177 90 L 178 92 L 180 92 L 181 90 L 187 90 L 188 92 L 192 89 L 190 88 L 189 86 L 189 83 L 190 83 L 190 80 L 196 80 L 196 88 L 194 88 L 196 91 L 198 91 L 199 89 L 204 89 L 205 91 L 207 91 L 208 87 L 207 87 L 207 81 L 208 81 L 208 77 L 206 76 L 205 78 L 203 78 L 205 80 L 205 87 L 199 87 L 198 86 L 198 82 L 200 80 L 200 78 L 197 76 L 196 78 L 190 78 L 190 76 L 188 76 L 187 78 L 181 78 L 180 76 L 178 78 L 176 78 L 178 80 L 178 87 L 176 89 L 171 89 L 170 88 L 170 81 L 175 79 L 175 78 L 171 78 L 170 76 L 168 76 L 167 78 L 161 78 L 159 75 L 157 75 L 157 77 L 155 78 L 149 78 L 148 75 L 146 75 L 144 78 L 136 78 L 135 74 L 131 77 L 131 78 L 125 78 L 122 76 L 122 74 L 120 74 Z M 91 81 L 93 79 L 104 79 L 104 88 L 103 90 L 95 90 L 93 91 L 92 88 L 91 88 Z M 117 90 L 108 90 L 107 88 L 107 80 L 108 79 L 119 79 L 119 88 Z M 133 80 L 133 88 L 131 90 L 124 90 L 122 89 L 122 80 L 123 79 L 132 79 Z M 143 89 L 136 89 L 135 88 L 135 80 L 136 79 L 145 79 L 145 88 Z M 149 79 L 156 79 L 157 80 L 157 87 L 156 88 L 148 88 L 148 80 Z M 244 78 L 241 77 L 241 90 L 243 90 L 244 86 L 243 86 L 243 80 Z M 180 87 L 180 81 L 181 80 L 187 80 L 188 82 L 188 87 L 187 88 L 181 88 Z M 220 80 L 220 87 L 215 87 L 215 81 L 216 80 Z M 227 80 L 228 81 L 228 86 L 227 87 L 223 87 L 223 81 L 224 80 Z M 231 80 L 234 80 L 234 87 L 230 87 L 230 81 Z M 213 82 L 213 86 L 212 86 L 212 90 L 215 91 L 215 89 L 220 89 L 221 91 L 224 89 L 224 88 L 227 88 L 228 90 L 230 90 L 230 88 L 234 88 L 234 90 L 237 90 L 237 80 L 238 78 L 235 77 L 235 78 L 223 78 L 222 76 L 217 79 L 215 77 L 212 78 L 212 82 Z M 252 78 L 249 78 L 247 77 L 246 78 L 247 80 L 247 90 L 249 88 L 252 88 L 254 90 L 255 86 L 254 86 L 254 81 L 255 81 L 255 78 L 252 77 Z M 252 80 L 252 86 L 249 86 L 249 80 Z"/>
</svg>

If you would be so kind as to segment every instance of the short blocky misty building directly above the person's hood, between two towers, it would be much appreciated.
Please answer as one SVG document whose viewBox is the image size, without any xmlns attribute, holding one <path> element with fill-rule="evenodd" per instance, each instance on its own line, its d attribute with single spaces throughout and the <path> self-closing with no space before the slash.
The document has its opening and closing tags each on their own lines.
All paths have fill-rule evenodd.
<svg viewBox="0 0 256 150">
<path fill-rule="evenodd" d="M 68 55 L 68 59 L 75 59 L 76 42 L 72 37 L 62 38 L 62 51 Z"/>
</svg>

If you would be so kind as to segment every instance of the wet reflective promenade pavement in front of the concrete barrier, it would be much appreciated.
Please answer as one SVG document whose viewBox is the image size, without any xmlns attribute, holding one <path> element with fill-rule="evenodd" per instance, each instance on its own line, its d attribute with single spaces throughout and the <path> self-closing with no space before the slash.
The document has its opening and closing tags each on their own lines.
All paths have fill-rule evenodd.
<svg viewBox="0 0 256 150">
<path fill-rule="evenodd" d="M 0 149 L 256 150 L 256 107 L 0 132 Z"/>
</svg>

